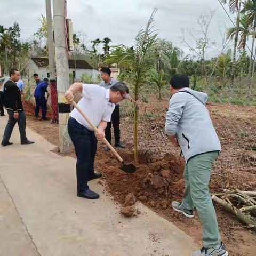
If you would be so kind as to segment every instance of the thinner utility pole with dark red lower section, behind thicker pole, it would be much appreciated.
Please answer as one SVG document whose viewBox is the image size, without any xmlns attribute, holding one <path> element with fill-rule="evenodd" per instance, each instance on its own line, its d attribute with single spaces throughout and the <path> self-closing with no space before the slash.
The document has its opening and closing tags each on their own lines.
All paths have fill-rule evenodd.
<svg viewBox="0 0 256 256">
<path fill-rule="evenodd" d="M 45 0 L 45 5 L 46 5 L 48 59 L 49 59 L 50 83 L 51 83 L 52 123 L 58 123 L 58 101 L 57 101 L 58 96 L 57 96 L 57 85 L 56 85 L 56 78 L 55 78 L 51 0 Z"/>
</svg>

